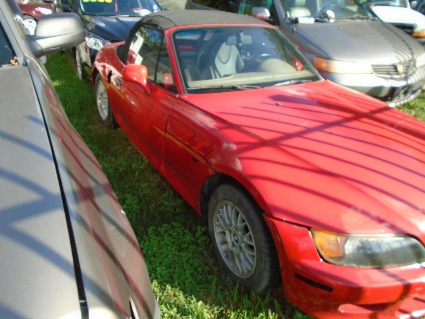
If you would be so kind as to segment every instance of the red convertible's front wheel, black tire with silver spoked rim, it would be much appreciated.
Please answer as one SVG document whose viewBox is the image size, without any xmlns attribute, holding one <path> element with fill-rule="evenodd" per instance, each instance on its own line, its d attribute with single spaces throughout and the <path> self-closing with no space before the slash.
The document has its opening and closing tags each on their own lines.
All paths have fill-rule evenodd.
<svg viewBox="0 0 425 319">
<path fill-rule="evenodd" d="M 236 214 L 239 212 L 242 213 L 242 217 L 244 218 L 247 226 L 241 226 L 239 230 L 229 226 L 229 229 L 223 231 L 223 218 L 226 211 L 229 211 L 225 208 L 225 205 L 230 206 L 228 203 L 231 203 L 236 207 Z M 250 288 L 258 294 L 267 293 L 272 288 L 280 285 L 280 268 L 275 243 L 261 213 L 261 209 L 258 207 L 254 199 L 252 199 L 250 194 L 232 184 L 219 185 L 213 192 L 208 207 L 208 231 L 214 246 L 215 254 L 227 273 L 229 273 L 234 280 L 239 282 L 240 285 Z M 221 219 L 219 216 L 221 216 Z M 240 215 L 237 216 L 239 217 Z M 239 222 L 239 218 L 237 219 L 237 222 Z M 221 226 L 214 226 L 215 223 L 217 225 L 220 224 Z M 232 222 L 232 225 L 234 225 L 234 222 Z M 241 225 L 244 225 L 242 219 Z M 249 237 L 249 231 L 252 234 L 252 247 L 249 242 L 244 242 L 244 238 L 246 236 Z M 224 237 L 226 239 L 224 239 Z M 222 245 L 219 247 L 218 242 L 220 241 L 220 238 L 224 240 L 222 241 Z M 233 247 L 230 250 L 232 251 L 232 249 L 236 249 L 236 253 L 233 256 L 238 255 L 238 245 L 240 248 L 239 251 L 254 252 L 254 262 L 247 259 L 248 257 L 246 256 L 251 256 L 250 254 L 245 254 L 244 259 L 246 261 L 244 266 L 249 268 L 250 263 L 252 263 L 252 269 L 243 273 L 243 271 L 240 270 L 243 267 L 241 268 L 238 266 L 237 262 L 233 263 L 233 265 L 236 265 L 235 267 L 230 265 L 232 264 L 232 258 L 229 257 L 231 254 L 227 254 L 226 256 L 224 250 L 226 247 L 229 248 L 232 245 Z M 244 245 L 245 248 L 242 249 Z M 252 249 L 253 247 L 254 249 Z M 243 262 L 243 258 L 239 257 L 239 261 L 241 264 Z"/>
</svg>

